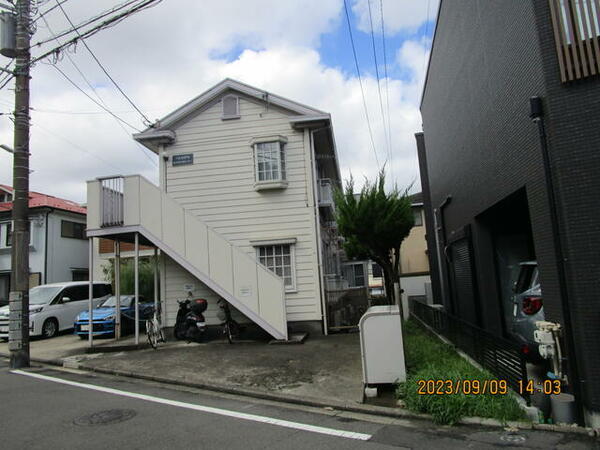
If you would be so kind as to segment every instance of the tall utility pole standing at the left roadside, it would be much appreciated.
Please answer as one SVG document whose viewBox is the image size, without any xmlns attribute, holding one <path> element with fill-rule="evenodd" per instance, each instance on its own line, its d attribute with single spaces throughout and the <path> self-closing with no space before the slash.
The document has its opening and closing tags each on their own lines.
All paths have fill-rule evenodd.
<svg viewBox="0 0 600 450">
<path fill-rule="evenodd" d="M 30 0 L 17 0 L 10 367 L 29 367 L 29 65 Z"/>
</svg>

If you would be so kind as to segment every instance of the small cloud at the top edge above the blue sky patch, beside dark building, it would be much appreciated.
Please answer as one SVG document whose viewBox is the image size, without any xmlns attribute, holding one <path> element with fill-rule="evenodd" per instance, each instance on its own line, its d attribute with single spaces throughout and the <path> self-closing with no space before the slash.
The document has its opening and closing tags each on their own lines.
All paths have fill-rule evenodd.
<svg viewBox="0 0 600 450">
<path fill-rule="evenodd" d="M 355 0 L 352 11 L 358 18 L 358 29 L 371 32 L 371 16 L 376 32 L 381 30 L 381 7 L 377 0 Z M 383 1 L 385 32 L 391 36 L 400 31 L 414 31 L 427 20 L 435 20 L 439 0 L 388 0 Z"/>
</svg>

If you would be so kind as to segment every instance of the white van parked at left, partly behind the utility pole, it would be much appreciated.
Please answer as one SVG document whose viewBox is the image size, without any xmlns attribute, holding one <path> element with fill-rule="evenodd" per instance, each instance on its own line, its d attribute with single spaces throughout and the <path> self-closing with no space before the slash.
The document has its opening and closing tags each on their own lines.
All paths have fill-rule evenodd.
<svg viewBox="0 0 600 450">
<path fill-rule="evenodd" d="M 110 283 L 94 281 L 93 307 L 112 294 Z M 77 315 L 88 309 L 89 282 L 69 281 L 29 290 L 29 335 L 54 337 L 73 328 Z M 0 308 L 0 339 L 8 339 L 9 307 Z"/>
</svg>

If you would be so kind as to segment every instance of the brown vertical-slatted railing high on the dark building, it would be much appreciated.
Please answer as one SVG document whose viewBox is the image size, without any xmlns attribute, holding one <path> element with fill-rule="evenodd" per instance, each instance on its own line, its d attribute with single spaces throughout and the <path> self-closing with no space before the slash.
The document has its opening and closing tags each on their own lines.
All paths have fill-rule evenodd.
<svg viewBox="0 0 600 450">
<path fill-rule="evenodd" d="M 600 74 L 600 2 L 548 0 L 562 82 Z"/>
</svg>

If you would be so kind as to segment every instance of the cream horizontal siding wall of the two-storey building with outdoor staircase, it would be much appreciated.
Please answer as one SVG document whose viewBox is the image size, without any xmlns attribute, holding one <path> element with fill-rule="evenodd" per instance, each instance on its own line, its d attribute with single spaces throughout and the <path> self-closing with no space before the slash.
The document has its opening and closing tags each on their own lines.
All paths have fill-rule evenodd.
<svg viewBox="0 0 600 450">
<path fill-rule="evenodd" d="M 305 159 L 304 134 L 292 129 L 289 116 L 272 105 L 267 109 L 266 105 L 240 98 L 240 115 L 240 119 L 221 120 L 221 103 L 216 102 L 174 128 L 177 139 L 166 147 L 167 154 L 193 153 L 194 164 L 166 165 L 167 192 L 252 257 L 255 250 L 251 240 L 296 238 L 296 292 L 286 293 L 287 320 L 321 320 L 309 197 L 312 187 L 307 182 L 310 162 Z M 274 135 L 288 139 L 285 153 L 289 185 L 286 189 L 256 192 L 250 140 Z M 181 298 L 182 279 L 189 275 L 178 267 L 169 267 L 166 275 L 167 298 L 174 297 L 175 291 Z"/>
</svg>

